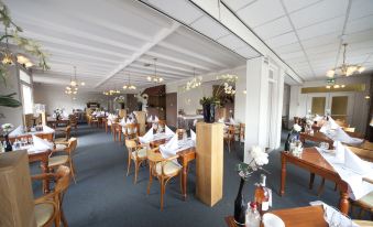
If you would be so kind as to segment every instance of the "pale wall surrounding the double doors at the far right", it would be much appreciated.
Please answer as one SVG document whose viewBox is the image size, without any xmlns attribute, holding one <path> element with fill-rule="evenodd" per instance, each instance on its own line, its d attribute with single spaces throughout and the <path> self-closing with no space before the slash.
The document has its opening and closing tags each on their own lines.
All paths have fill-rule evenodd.
<svg viewBox="0 0 373 227">
<path fill-rule="evenodd" d="M 337 79 L 337 84 L 365 84 L 365 91 L 355 91 L 355 93 L 341 93 L 341 94 L 352 94 L 353 99 L 353 112 L 352 120 L 349 122 L 351 127 L 356 128 L 359 132 L 365 132 L 366 128 L 366 118 L 369 111 L 369 101 L 364 98 L 369 95 L 370 91 L 370 80 L 371 77 L 369 75 L 360 75 L 360 76 L 351 76 Z M 294 117 L 303 117 L 307 114 L 307 100 L 308 96 L 315 94 L 300 94 L 300 89 L 303 87 L 317 87 L 325 86 L 325 80 L 315 80 L 315 82 L 306 82 L 300 86 L 292 86 L 290 88 L 290 111 L 289 111 L 289 122 L 293 125 Z M 327 96 L 328 93 L 318 93 L 319 95 Z"/>
</svg>

